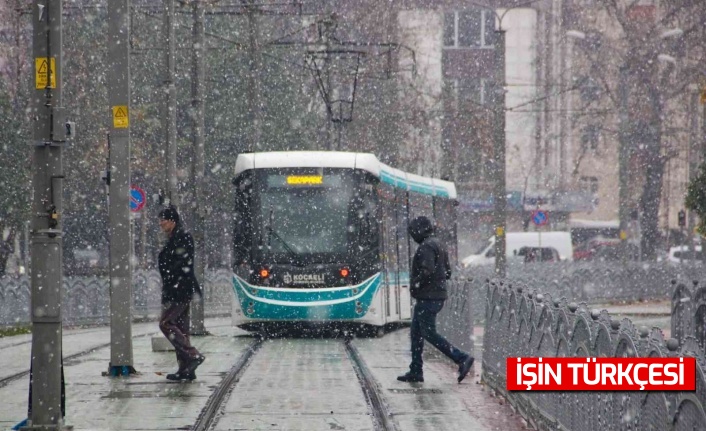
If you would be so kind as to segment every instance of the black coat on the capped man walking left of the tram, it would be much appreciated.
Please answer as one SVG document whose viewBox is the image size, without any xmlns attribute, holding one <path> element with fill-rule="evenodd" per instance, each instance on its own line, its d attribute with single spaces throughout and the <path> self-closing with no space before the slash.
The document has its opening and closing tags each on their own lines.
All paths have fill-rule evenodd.
<svg viewBox="0 0 706 431">
<path fill-rule="evenodd" d="M 201 295 L 201 287 L 194 274 L 194 240 L 181 227 L 174 228 L 159 253 L 159 275 L 162 276 L 162 304 L 188 303 L 194 293 Z"/>
</svg>

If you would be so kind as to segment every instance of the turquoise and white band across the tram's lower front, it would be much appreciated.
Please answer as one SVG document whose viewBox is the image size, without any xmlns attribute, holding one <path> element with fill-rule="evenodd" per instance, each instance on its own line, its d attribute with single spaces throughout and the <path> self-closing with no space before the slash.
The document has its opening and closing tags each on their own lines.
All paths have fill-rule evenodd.
<svg viewBox="0 0 706 431">
<path fill-rule="evenodd" d="M 355 286 L 292 289 L 255 286 L 233 276 L 233 290 L 251 319 L 350 320 L 368 312 L 380 279 L 377 273 Z"/>
</svg>

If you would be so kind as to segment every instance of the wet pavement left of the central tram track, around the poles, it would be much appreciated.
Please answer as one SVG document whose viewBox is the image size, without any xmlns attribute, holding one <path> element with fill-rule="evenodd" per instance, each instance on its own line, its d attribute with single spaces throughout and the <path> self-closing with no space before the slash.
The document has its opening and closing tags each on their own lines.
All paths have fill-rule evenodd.
<svg viewBox="0 0 706 431">
<path fill-rule="evenodd" d="M 64 361 L 66 424 L 75 430 L 189 429 L 213 387 L 250 342 L 250 338 L 233 337 L 237 330 L 230 326 L 230 319 L 209 319 L 206 327 L 214 335 L 193 340 L 207 361 L 191 384 L 165 379 L 176 369 L 176 359 L 174 352 L 152 352 L 151 336 L 159 333 L 156 322 L 133 326 L 136 376 L 102 376 L 108 369 L 110 348 Z M 109 342 L 109 331 L 108 327 L 65 331 L 64 356 Z M 0 378 L 29 368 L 30 347 L 23 344 L 0 350 Z M 28 385 L 29 377 L 24 377 L 0 388 L 0 429 L 10 429 L 26 418 Z"/>
</svg>

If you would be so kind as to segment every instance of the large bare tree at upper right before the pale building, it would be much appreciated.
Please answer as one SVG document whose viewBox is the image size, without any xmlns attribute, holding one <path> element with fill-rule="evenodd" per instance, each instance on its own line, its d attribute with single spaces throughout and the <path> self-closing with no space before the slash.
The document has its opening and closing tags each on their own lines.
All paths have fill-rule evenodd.
<svg viewBox="0 0 706 431">
<path fill-rule="evenodd" d="M 685 133 L 676 120 L 686 117 L 687 87 L 698 81 L 698 65 L 706 60 L 705 14 L 698 0 L 660 2 L 659 7 L 642 3 L 595 0 L 591 7 L 569 5 L 563 26 L 565 32 L 580 36 L 574 42 L 575 54 L 583 61 L 573 67 L 587 66 L 582 91 L 600 93 L 584 97 L 579 111 L 604 110 L 592 121 L 620 142 L 619 157 L 629 169 L 623 181 L 638 190 L 637 199 L 630 199 L 634 202 L 621 205 L 638 210 L 643 257 L 653 258 L 660 239 L 665 165 L 674 155 L 666 142 Z"/>
</svg>

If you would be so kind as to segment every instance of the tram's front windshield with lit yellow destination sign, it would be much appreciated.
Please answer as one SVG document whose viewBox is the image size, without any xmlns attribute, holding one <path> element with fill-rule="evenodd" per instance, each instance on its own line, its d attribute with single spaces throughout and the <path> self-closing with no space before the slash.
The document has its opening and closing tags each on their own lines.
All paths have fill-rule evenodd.
<svg viewBox="0 0 706 431">
<path fill-rule="evenodd" d="M 374 205 L 365 174 L 346 169 L 257 169 L 252 241 L 258 260 L 315 263 L 347 260 L 369 244 Z M 369 212 L 373 211 L 372 214 Z M 367 223 L 367 224 L 366 224 Z"/>
</svg>

